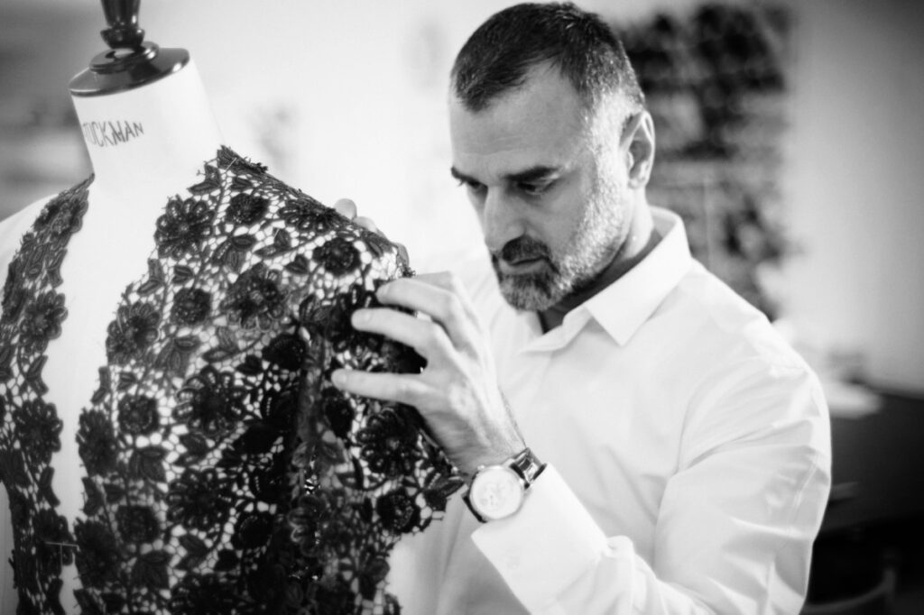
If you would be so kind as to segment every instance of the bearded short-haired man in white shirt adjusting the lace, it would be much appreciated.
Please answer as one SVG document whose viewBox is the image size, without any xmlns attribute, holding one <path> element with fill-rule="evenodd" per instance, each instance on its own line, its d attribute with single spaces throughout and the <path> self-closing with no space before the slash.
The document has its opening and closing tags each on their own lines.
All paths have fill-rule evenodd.
<svg viewBox="0 0 924 615">
<path fill-rule="evenodd" d="M 456 57 L 449 105 L 493 275 L 383 286 L 426 318 L 375 308 L 354 326 L 426 368 L 334 373 L 417 407 L 473 476 L 395 551 L 406 612 L 797 613 L 827 409 L 648 204 L 654 129 L 621 44 L 575 6 L 513 6 Z"/>
</svg>

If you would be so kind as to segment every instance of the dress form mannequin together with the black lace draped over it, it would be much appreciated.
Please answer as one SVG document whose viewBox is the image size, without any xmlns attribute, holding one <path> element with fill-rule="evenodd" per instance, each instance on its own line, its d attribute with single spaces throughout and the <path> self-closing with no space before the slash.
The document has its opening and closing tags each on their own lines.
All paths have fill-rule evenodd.
<svg viewBox="0 0 924 615">
<path fill-rule="evenodd" d="M 349 324 L 407 262 L 221 146 L 185 52 L 132 15 L 71 83 L 95 178 L 0 223 L 20 602 L 396 612 L 387 554 L 461 481 L 416 412 L 330 373 L 420 368 Z"/>
</svg>

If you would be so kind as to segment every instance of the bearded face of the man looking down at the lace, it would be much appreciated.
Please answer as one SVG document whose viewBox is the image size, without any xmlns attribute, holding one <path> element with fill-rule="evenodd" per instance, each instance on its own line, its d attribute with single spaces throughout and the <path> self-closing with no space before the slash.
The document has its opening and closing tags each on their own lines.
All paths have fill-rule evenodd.
<svg viewBox="0 0 924 615">
<path fill-rule="evenodd" d="M 552 307 L 602 271 L 625 239 L 619 123 L 587 114 L 549 69 L 480 112 L 450 103 L 452 173 L 515 308 Z"/>
</svg>

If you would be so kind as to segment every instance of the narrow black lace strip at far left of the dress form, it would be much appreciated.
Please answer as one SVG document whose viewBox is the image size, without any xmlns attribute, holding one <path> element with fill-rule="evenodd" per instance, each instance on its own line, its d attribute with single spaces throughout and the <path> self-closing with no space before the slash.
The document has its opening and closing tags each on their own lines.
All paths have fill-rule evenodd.
<svg viewBox="0 0 924 615">
<path fill-rule="evenodd" d="M 74 538 L 52 489 L 52 455 L 61 420 L 44 395 L 48 343 L 67 317 L 60 268 L 67 241 L 87 211 L 92 177 L 48 202 L 7 270 L 0 316 L 0 479 L 13 525 L 14 583 L 21 612 L 63 613 L 61 569 L 73 562 Z"/>
</svg>

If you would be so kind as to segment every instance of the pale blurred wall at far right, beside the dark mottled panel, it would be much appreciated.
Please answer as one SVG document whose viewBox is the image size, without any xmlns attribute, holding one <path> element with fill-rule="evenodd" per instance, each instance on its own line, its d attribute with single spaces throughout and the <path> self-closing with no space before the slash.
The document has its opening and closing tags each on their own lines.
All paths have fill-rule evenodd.
<svg viewBox="0 0 924 615">
<path fill-rule="evenodd" d="M 793 6 L 788 315 L 870 380 L 924 392 L 924 3 Z"/>
</svg>

